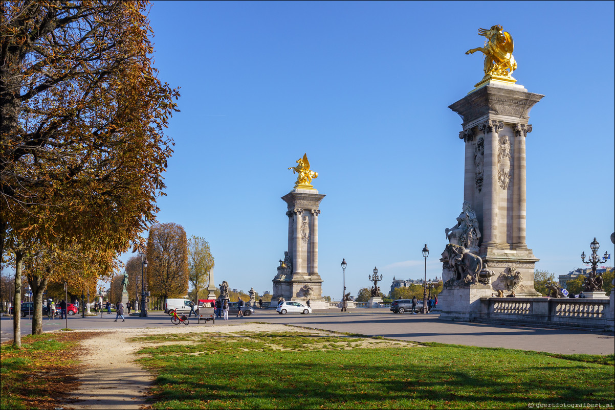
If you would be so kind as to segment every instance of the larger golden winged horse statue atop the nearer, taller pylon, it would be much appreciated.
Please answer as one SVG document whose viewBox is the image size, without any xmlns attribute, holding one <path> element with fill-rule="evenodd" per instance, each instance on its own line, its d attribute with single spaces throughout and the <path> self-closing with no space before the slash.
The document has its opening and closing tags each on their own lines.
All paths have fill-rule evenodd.
<svg viewBox="0 0 615 410">
<path fill-rule="evenodd" d="M 512 79 L 512 72 L 517 69 L 517 63 L 512 57 L 514 45 L 510 33 L 502 32 L 502 26 L 495 25 L 489 30 L 479 28 L 478 35 L 486 37 L 485 46 L 467 50 L 466 54 L 477 51 L 485 54 L 485 77 L 502 76 Z"/>
</svg>

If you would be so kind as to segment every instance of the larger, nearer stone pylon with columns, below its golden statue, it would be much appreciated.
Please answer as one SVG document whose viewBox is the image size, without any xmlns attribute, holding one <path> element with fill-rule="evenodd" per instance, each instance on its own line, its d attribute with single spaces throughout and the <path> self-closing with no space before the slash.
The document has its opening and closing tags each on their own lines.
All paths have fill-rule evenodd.
<svg viewBox="0 0 615 410">
<path fill-rule="evenodd" d="M 494 272 L 494 290 L 510 293 L 511 275 L 520 275 L 517 297 L 540 296 L 534 290 L 539 259 L 525 242 L 525 140 L 530 109 L 542 97 L 522 85 L 490 81 L 449 106 L 463 119 L 464 201 L 482 232 L 478 256 Z"/>
</svg>

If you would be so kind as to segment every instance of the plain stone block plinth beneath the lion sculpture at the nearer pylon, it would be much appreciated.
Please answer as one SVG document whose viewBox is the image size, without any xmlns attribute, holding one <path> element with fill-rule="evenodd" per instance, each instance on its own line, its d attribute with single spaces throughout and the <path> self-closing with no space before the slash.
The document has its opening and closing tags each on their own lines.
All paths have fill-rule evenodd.
<svg viewBox="0 0 615 410">
<path fill-rule="evenodd" d="M 490 298 L 491 286 L 477 283 L 469 286 L 444 286 L 438 294 L 440 319 L 468 321 L 480 315 L 480 298 Z"/>
</svg>

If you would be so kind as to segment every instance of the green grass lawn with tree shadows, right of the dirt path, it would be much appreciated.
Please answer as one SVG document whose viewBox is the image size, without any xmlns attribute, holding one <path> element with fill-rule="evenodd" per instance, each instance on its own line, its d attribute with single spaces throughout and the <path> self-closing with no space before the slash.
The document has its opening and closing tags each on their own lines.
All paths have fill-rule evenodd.
<svg viewBox="0 0 615 410">
<path fill-rule="evenodd" d="M 528 408 L 613 403 L 614 357 L 309 333 L 161 335 L 154 409 Z M 172 344 L 156 345 L 165 341 Z"/>
</svg>

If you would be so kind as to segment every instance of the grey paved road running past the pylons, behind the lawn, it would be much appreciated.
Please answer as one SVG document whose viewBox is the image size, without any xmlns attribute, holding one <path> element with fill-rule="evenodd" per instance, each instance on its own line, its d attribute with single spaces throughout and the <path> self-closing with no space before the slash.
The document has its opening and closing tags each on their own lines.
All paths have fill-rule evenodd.
<svg viewBox="0 0 615 410">
<path fill-rule="evenodd" d="M 127 317 L 125 322 L 114 322 L 115 315 L 103 313 L 103 318 L 69 317 L 71 329 L 124 328 L 137 331 L 145 327 L 175 327 L 167 315 L 150 312 L 149 317 Z M 285 323 L 330 331 L 360 333 L 368 336 L 384 336 L 392 339 L 417 342 L 440 342 L 483 347 L 506 347 L 507 349 L 538 350 L 552 353 L 587 353 L 608 355 L 615 353 L 613 333 L 596 333 L 563 329 L 541 329 L 525 326 L 497 326 L 482 323 L 461 323 L 438 320 L 437 315 L 395 315 L 388 309 L 355 309 L 343 313 L 337 309 L 319 310 L 311 315 L 279 315 L 274 310 L 256 310 L 247 318 L 230 317 L 228 323 L 264 321 Z M 43 320 L 46 331 L 62 329 L 65 321 Z M 13 321 L 0 320 L 1 341 L 12 339 Z M 182 325 L 179 325 L 182 326 Z M 191 321 L 189 326 L 215 326 Z M 22 334 L 31 333 L 31 320 L 22 321 Z"/>
</svg>

